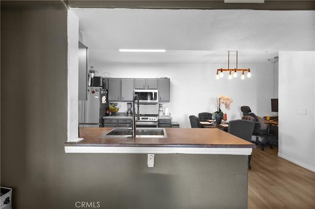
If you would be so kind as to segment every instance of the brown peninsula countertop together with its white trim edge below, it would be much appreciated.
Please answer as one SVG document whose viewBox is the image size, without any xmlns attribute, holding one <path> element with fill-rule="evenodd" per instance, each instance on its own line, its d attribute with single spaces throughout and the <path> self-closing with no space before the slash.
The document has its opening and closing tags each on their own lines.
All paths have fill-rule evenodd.
<svg viewBox="0 0 315 209">
<path fill-rule="evenodd" d="M 182 153 L 251 155 L 254 145 L 219 129 L 166 128 L 167 138 L 113 137 L 113 128 L 80 128 L 81 141 L 64 143 L 66 153 Z"/>
</svg>

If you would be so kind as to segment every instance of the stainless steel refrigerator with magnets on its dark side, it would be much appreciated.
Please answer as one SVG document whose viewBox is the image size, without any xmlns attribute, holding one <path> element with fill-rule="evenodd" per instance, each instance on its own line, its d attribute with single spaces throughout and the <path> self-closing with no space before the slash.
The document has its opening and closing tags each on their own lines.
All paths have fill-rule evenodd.
<svg viewBox="0 0 315 209">
<path fill-rule="evenodd" d="M 103 127 L 106 96 L 106 90 L 102 87 L 87 88 L 87 100 L 79 100 L 79 127 Z"/>
</svg>

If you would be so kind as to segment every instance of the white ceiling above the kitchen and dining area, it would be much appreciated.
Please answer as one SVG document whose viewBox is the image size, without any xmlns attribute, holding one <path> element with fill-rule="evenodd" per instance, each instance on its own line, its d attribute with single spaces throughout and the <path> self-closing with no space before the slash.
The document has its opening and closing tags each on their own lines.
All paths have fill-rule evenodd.
<svg viewBox="0 0 315 209">
<path fill-rule="evenodd" d="M 225 63 L 227 51 L 238 51 L 239 63 L 264 63 L 279 51 L 315 51 L 314 11 L 71 10 L 79 18 L 90 58 L 100 62 Z M 230 53 L 230 63 L 235 63 L 236 53 Z"/>
</svg>

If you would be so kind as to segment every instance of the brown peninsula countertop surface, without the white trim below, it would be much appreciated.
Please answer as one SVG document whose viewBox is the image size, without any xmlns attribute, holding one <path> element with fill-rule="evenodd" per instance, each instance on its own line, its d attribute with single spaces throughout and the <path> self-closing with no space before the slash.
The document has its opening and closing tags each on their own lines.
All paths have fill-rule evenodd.
<svg viewBox="0 0 315 209">
<path fill-rule="evenodd" d="M 80 128 L 79 142 L 65 142 L 65 146 L 98 147 L 198 147 L 198 148 L 254 148 L 254 144 L 219 129 L 165 128 L 167 138 L 102 138 L 113 128 Z"/>
</svg>

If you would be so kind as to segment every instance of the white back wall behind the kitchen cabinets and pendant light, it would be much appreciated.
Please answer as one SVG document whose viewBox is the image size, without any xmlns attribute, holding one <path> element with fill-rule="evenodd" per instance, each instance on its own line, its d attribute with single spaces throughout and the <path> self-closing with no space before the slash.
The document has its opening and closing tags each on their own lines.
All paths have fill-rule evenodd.
<svg viewBox="0 0 315 209">
<path fill-rule="evenodd" d="M 217 80 L 216 70 L 226 67 L 221 64 L 148 64 L 148 63 L 96 63 L 93 60 L 93 50 L 89 51 L 89 65 L 102 74 L 110 73 L 112 78 L 170 78 L 171 102 L 165 103 L 173 121 L 180 123 L 181 128 L 190 128 L 189 115 L 198 115 L 199 112 L 215 112 L 216 97 L 225 94 L 233 99 L 230 110 L 224 107 L 228 120 L 240 119 L 240 107 L 249 105 L 252 112 L 265 116 L 271 114 L 270 99 L 274 97 L 274 72 L 273 64 L 239 64 L 239 68 L 250 68 L 252 78 L 241 80 L 224 78 Z M 147 105 L 148 106 L 148 105 Z M 158 114 L 158 105 L 143 108 L 153 109 Z M 126 105 L 121 105 L 121 111 L 126 110 Z M 147 113 L 147 112 L 146 112 Z"/>
</svg>

